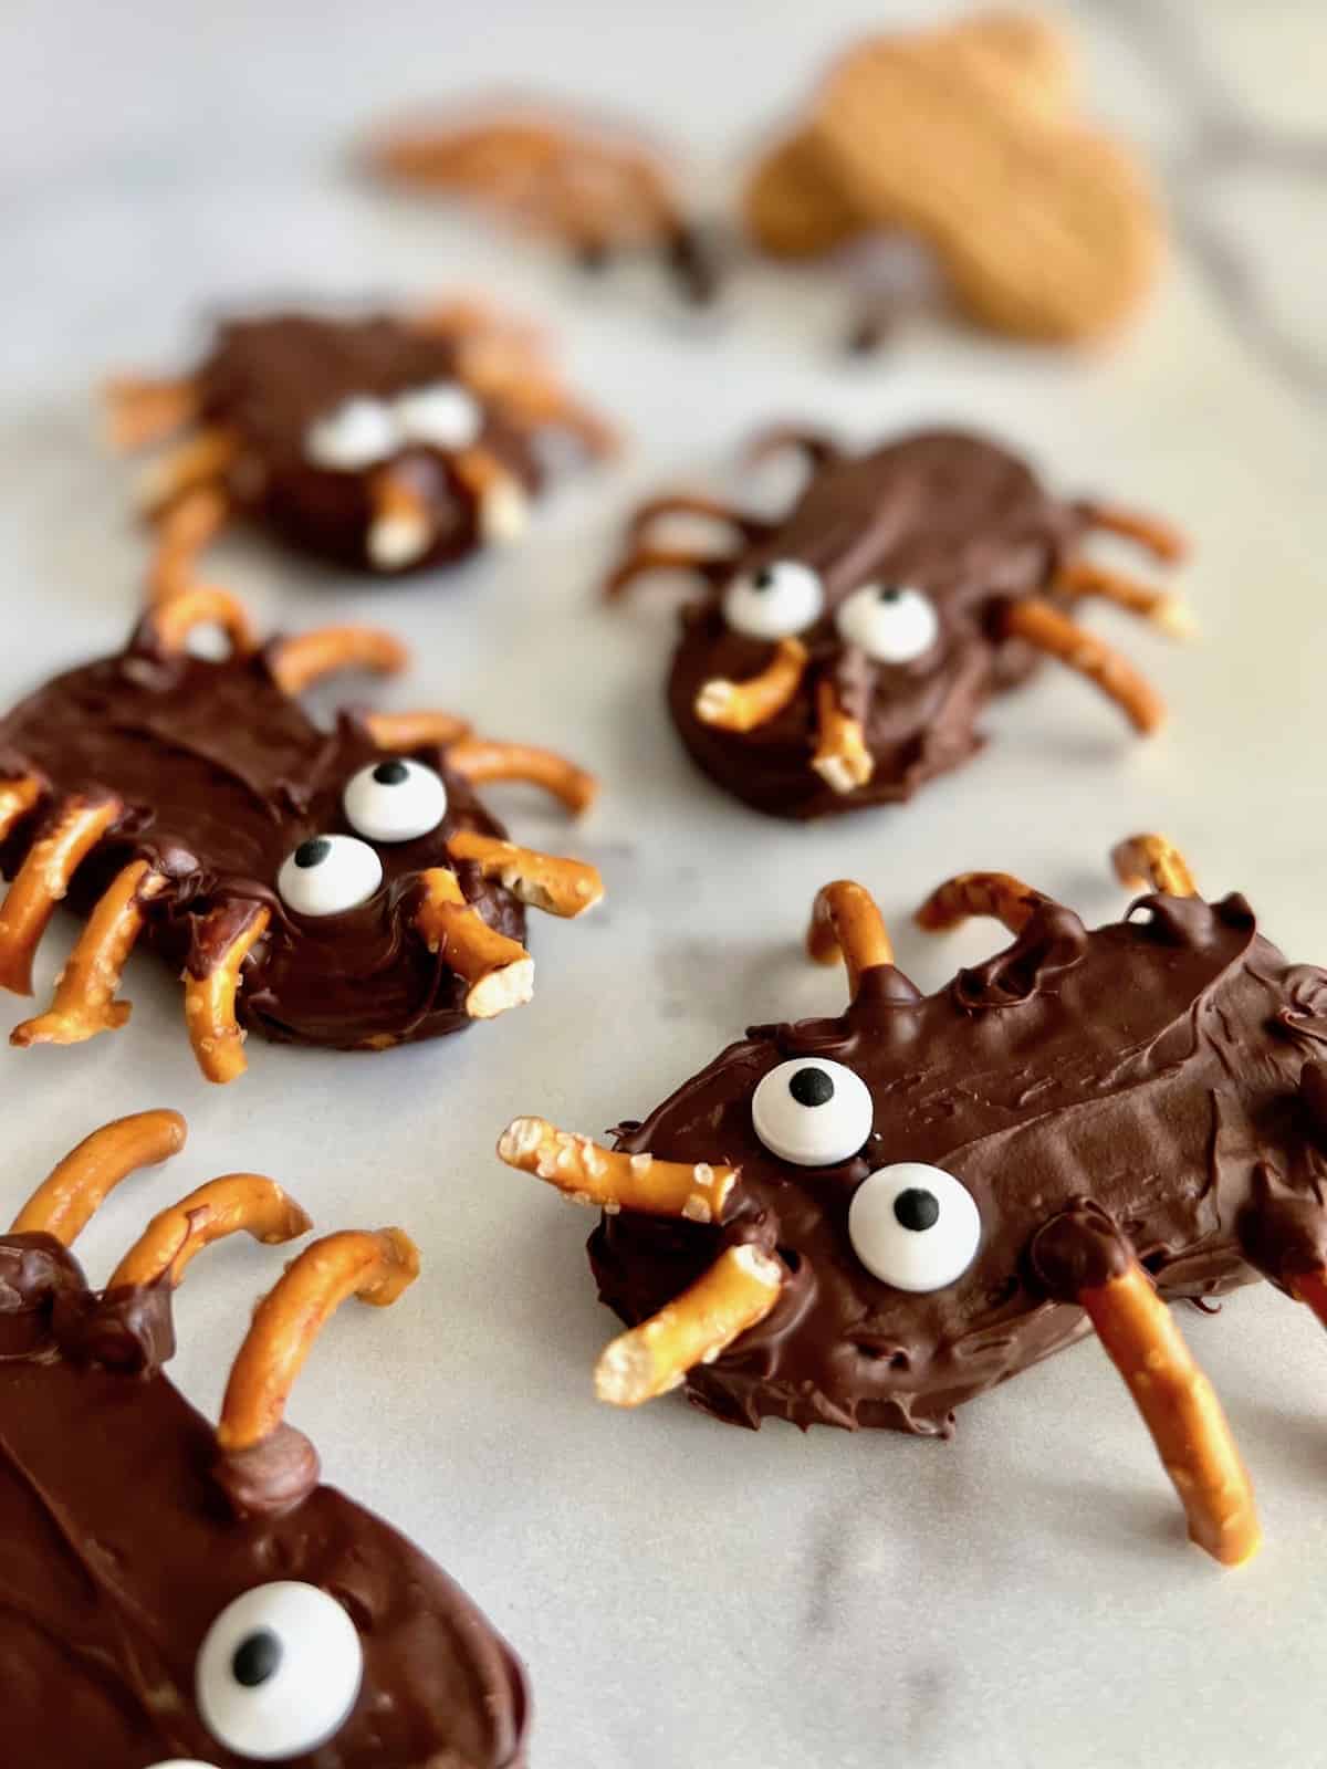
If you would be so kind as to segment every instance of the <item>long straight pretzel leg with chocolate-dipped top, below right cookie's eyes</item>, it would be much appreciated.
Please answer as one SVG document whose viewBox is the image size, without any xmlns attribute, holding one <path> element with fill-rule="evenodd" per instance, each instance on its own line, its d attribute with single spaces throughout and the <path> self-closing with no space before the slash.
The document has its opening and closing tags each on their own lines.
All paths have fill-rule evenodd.
<svg viewBox="0 0 1327 1769">
<path fill-rule="evenodd" d="M 1124 1376 L 1189 1516 L 1189 1539 L 1223 1566 L 1251 1558 L 1262 1532 L 1235 1438 L 1127 1237 L 1106 1212 L 1070 1208 L 1040 1229 L 1032 1263 L 1056 1300 L 1086 1313 Z"/>
</svg>

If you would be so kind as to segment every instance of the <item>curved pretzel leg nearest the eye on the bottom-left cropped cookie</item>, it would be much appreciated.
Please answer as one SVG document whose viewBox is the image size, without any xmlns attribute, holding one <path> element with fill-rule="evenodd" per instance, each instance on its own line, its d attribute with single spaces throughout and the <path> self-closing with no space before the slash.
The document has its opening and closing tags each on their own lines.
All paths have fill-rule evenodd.
<svg viewBox="0 0 1327 1769">
<path fill-rule="evenodd" d="M 253 1314 L 221 1403 L 219 1449 L 251 1449 L 281 1424 L 295 1376 L 341 1302 L 384 1309 L 418 1275 L 419 1251 L 398 1228 L 347 1229 L 306 1247 Z"/>
</svg>

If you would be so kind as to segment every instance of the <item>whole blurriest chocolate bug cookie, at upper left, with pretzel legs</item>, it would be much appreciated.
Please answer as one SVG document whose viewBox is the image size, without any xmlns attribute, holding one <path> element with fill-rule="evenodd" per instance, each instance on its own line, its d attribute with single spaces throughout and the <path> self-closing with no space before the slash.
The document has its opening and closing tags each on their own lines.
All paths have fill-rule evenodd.
<svg viewBox="0 0 1327 1769">
<path fill-rule="evenodd" d="M 168 591 L 230 517 L 366 571 L 449 564 L 524 532 L 548 476 L 543 437 L 614 448 L 529 329 L 467 302 L 232 320 L 193 373 L 122 379 L 108 400 L 120 448 L 189 432 L 142 492 Z"/>
</svg>

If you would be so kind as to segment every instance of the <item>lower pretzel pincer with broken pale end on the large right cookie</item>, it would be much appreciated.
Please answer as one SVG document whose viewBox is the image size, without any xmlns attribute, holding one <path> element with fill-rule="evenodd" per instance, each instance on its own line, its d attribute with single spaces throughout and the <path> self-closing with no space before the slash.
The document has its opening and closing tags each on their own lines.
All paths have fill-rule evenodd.
<svg viewBox="0 0 1327 1769">
<path fill-rule="evenodd" d="M 679 1387 L 695 1364 L 713 1364 L 763 1321 L 784 1284 L 779 1260 L 750 1244 L 729 1247 L 658 1314 L 605 1346 L 594 1392 L 612 1406 L 640 1406 Z"/>
</svg>

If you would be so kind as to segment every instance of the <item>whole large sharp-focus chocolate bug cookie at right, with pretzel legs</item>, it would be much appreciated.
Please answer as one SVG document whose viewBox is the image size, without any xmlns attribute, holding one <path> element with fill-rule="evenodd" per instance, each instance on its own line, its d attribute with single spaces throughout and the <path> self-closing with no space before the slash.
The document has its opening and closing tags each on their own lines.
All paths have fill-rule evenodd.
<svg viewBox="0 0 1327 1769">
<path fill-rule="evenodd" d="M 1223 1562 L 1258 1544 L 1221 1406 L 1164 1307 L 1267 1277 L 1327 1323 L 1327 975 L 1242 897 L 1203 902 L 1157 837 L 1154 890 L 1088 930 L 1007 874 L 941 884 L 927 929 L 1016 936 L 922 996 L 858 884 L 810 953 L 833 1019 L 757 1026 L 614 1146 L 520 1118 L 499 1155 L 600 1205 L 589 1254 L 628 1323 L 596 1371 L 685 1385 L 733 1424 L 947 1433 L 954 1408 L 1095 1330 Z"/>
</svg>

